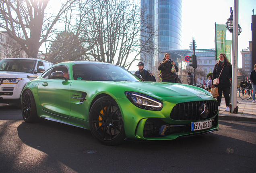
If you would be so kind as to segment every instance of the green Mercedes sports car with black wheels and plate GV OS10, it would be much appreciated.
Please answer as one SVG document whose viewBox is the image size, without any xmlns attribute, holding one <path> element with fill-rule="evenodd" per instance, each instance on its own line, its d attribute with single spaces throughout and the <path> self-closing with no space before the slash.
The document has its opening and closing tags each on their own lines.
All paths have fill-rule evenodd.
<svg viewBox="0 0 256 173">
<path fill-rule="evenodd" d="M 105 145 L 170 140 L 219 130 L 208 91 L 185 84 L 142 82 L 103 62 L 62 62 L 27 83 L 21 97 L 27 123 L 43 119 L 85 129 Z"/>
</svg>

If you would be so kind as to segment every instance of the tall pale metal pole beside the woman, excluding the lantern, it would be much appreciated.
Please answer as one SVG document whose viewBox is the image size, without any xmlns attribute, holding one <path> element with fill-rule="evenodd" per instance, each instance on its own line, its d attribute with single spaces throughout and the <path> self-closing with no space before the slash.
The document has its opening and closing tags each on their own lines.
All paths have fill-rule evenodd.
<svg viewBox="0 0 256 173">
<path fill-rule="evenodd" d="M 231 113 L 237 113 L 238 0 L 234 0 Z"/>
</svg>

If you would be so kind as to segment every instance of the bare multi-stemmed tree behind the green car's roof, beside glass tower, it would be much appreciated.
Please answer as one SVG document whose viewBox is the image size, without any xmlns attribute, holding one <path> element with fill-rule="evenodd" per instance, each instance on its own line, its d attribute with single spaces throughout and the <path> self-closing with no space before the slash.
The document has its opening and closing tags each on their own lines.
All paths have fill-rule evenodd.
<svg viewBox="0 0 256 173">
<path fill-rule="evenodd" d="M 88 11 L 84 22 L 89 29 L 89 38 L 95 40 L 93 48 L 86 54 L 95 61 L 115 63 L 129 69 L 141 52 L 154 50 L 153 25 L 140 18 L 139 3 L 131 0 L 91 0 L 85 10 Z M 146 27 L 141 27 L 141 23 Z M 144 38 L 141 45 L 140 33 L 149 27 L 148 38 Z M 128 59 L 131 53 L 134 57 Z"/>
</svg>

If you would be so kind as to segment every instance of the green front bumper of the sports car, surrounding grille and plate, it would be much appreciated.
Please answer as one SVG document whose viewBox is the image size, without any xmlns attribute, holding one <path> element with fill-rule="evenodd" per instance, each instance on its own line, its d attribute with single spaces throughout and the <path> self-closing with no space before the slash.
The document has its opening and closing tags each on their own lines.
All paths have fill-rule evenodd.
<svg viewBox="0 0 256 173">
<path fill-rule="evenodd" d="M 126 137 L 131 140 L 170 140 L 182 136 L 190 136 L 219 130 L 219 117 L 216 109 L 211 109 L 214 113 L 206 119 L 171 119 L 171 111 L 179 103 L 195 101 L 217 102 L 209 96 L 186 96 L 168 97 L 163 102 L 161 111 L 150 111 L 135 107 L 126 98 L 118 99 L 119 107 L 122 108 L 124 118 L 124 129 Z M 122 107 L 121 105 L 126 105 Z M 217 105 L 217 104 L 216 104 Z M 125 110 L 125 111 L 124 111 Z M 213 115 L 214 114 L 214 115 Z M 180 116 L 180 115 L 179 115 Z M 198 131 L 191 131 L 191 123 L 198 121 L 212 120 L 212 127 Z"/>
</svg>

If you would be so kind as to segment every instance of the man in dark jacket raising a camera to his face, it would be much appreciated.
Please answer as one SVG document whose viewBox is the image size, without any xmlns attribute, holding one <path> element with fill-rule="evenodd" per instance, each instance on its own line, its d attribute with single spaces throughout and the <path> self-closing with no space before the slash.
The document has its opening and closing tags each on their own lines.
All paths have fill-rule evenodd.
<svg viewBox="0 0 256 173">
<path fill-rule="evenodd" d="M 171 70 L 174 66 L 175 70 Z M 163 58 L 163 62 L 158 66 L 158 70 L 162 73 L 162 82 L 172 82 L 175 83 L 175 72 L 179 71 L 179 68 L 175 65 L 175 62 L 170 60 L 170 54 L 166 53 Z"/>
</svg>

